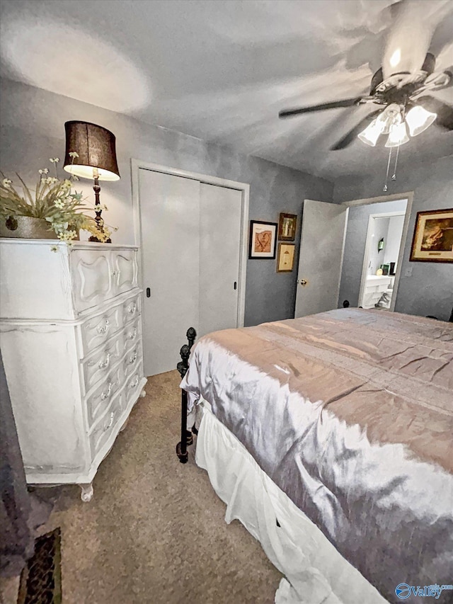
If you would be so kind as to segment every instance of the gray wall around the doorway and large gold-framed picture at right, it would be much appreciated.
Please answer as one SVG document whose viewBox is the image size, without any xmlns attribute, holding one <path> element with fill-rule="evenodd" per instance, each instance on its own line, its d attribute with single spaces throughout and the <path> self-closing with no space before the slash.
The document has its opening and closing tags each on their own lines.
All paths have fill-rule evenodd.
<svg viewBox="0 0 453 604">
<path fill-rule="evenodd" d="M 452 134 L 446 132 L 445 136 L 452 137 Z M 340 203 L 383 195 L 385 169 L 386 166 L 377 166 L 374 177 L 339 178 L 334 200 Z M 396 183 L 391 183 L 388 193 L 407 191 L 414 193 L 413 205 L 395 310 L 421 316 L 432 314 L 447 321 L 453 307 L 453 264 L 409 262 L 409 256 L 417 212 L 453 207 L 453 156 L 442 157 L 432 164 L 414 164 L 410 170 L 398 170 Z M 410 277 L 406 276 L 408 268 L 412 268 Z"/>
</svg>

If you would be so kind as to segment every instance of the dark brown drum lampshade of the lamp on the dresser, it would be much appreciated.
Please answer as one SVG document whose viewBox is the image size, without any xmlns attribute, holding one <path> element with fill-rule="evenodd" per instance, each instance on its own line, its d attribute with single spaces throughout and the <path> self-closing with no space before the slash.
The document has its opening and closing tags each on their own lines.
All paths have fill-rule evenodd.
<svg viewBox="0 0 453 604">
<path fill-rule="evenodd" d="M 90 122 L 66 122 L 66 154 L 63 169 L 81 178 L 94 178 L 93 168 L 98 169 L 100 181 L 118 181 L 115 135 L 102 126 Z M 69 153 L 76 152 L 72 158 Z"/>
</svg>

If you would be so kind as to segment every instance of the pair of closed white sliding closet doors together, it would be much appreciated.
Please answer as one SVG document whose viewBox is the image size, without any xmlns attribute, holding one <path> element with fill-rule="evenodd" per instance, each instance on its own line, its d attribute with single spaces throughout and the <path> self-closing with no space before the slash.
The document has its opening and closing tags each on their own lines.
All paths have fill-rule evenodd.
<svg viewBox="0 0 453 604">
<path fill-rule="evenodd" d="M 139 201 L 149 376 L 176 368 L 188 327 L 239 325 L 242 192 L 139 169 Z"/>
</svg>

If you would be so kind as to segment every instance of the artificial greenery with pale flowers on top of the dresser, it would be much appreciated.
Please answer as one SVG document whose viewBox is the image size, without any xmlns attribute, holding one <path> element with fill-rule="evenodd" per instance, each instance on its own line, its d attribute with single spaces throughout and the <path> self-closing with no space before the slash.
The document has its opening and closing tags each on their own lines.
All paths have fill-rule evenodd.
<svg viewBox="0 0 453 604">
<path fill-rule="evenodd" d="M 69 156 L 74 161 L 79 155 L 71 152 Z M 35 190 L 30 190 L 21 176 L 16 173 L 21 182 L 22 195 L 13 186 L 13 181 L 0 172 L 3 178 L 0 185 L 1 220 L 11 224 L 19 216 L 42 218 L 49 222 L 49 230 L 53 229 L 58 239 L 67 243 L 71 243 L 81 229 L 90 232 L 98 241 L 107 241 L 110 238 L 110 229 L 116 231 L 117 228 L 109 228 L 103 220 L 100 224 L 96 224 L 93 217 L 84 213 L 84 210 L 88 207 L 93 208 L 94 205 L 86 205 L 82 194 L 72 190 L 74 181 L 78 180 L 76 176 L 71 175 L 71 178 L 64 180 L 58 178 L 58 162 L 58 157 L 50 159 L 50 163 L 55 166 L 55 176 L 49 176 L 47 168 L 39 171 L 40 178 Z M 102 205 L 101 209 L 107 210 L 107 207 Z"/>
</svg>

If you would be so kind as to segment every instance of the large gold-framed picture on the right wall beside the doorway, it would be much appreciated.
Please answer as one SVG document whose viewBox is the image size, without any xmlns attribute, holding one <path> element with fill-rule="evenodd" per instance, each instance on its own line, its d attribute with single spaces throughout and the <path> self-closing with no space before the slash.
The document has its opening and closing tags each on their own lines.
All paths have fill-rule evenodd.
<svg viewBox="0 0 453 604">
<path fill-rule="evenodd" d="M 453 208 L 417 212 L 409 260 L 453 262 Z"/>
</svg>

